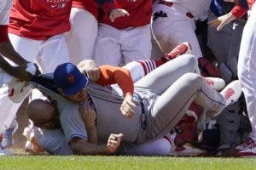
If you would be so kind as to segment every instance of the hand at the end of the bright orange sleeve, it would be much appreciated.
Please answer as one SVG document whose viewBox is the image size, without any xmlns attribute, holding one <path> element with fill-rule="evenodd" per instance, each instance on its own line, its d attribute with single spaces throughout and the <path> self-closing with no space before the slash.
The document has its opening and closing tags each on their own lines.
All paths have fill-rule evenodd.
<svg viewBox="0 0 256 170">
<path fill-rule="evenodd" d="M 126 94 L 125 99 L 120 107 L 120 111 L 124 116 L 131 117 L 134 115 L 134 108 L 136 105 L 132 101 L 132 95 Z"/>
</svg>

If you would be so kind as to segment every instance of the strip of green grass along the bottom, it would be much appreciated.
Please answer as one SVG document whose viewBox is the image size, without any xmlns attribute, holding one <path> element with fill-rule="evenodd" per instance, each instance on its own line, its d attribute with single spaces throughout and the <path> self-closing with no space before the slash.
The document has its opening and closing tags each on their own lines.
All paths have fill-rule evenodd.
<svg viewBox="0 0 256 170">
<path fill-rule="evenodd" d="M 4 170 L 62 169 L 256 169 L 253 158 L 195 158 L 143 156 L 0 156 Z"/>
</svg>

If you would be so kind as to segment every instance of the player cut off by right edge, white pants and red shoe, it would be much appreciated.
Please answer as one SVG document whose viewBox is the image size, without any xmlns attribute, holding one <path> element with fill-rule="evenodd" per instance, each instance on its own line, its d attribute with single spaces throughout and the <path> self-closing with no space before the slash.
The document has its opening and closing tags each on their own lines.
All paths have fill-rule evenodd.
<svg viewBox="0 0 256 170">
<path fill-rule="evenodd" d="M 241 81 L 241 87 L 247 103 L 247 112 L 251 122 L 252 132 L 246 141 L 236 147 L 239 152 L 236 156 L 256 156 L 256 119 L 255 119 L 255 26 L 256 26 L 256 4 L 253 0 L 247 1 L 248 7 L 252 5 L 250 16 L 244 27 L 241 37 L 241 48 L 238 58 L 238 78 Z M 243 8 L 244 10 L 247 8 Z M 254 57 L 254 58 L 253 58 Z"/>
</svg>

